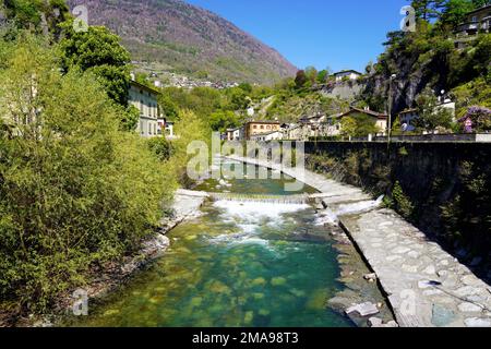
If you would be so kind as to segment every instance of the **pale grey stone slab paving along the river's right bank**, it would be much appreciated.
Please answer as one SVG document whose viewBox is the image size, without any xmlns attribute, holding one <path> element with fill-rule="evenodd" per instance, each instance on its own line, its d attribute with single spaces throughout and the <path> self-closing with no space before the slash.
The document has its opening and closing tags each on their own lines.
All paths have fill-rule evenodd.
<svg viewBox="0 0 491 349">
<path fill-rule="evenodd" d="M 308 170 L 229 158 L 283 170 L 325 195 L 327 207 L 367 200 L 360 189 Z M 373 209 L 340 224 L 375 272 L 402 327 L 491 327 L 491 287 L 395 212 Z"/>
</svg>

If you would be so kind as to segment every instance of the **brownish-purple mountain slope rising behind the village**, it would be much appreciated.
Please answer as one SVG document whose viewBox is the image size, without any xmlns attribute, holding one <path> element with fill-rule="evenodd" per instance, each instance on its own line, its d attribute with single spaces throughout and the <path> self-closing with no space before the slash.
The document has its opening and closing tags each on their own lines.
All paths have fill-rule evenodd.
<svg viewBox="0 0 491 349">
<path fill-rule="evenodd" d="M 122 37 L 133 59 L 211 80 L 272 83 L 296 68 L 216 14 L 180 0 L 69 0 Z M 155 67 L 155 64 L 153 64 Z"/>
</svg>

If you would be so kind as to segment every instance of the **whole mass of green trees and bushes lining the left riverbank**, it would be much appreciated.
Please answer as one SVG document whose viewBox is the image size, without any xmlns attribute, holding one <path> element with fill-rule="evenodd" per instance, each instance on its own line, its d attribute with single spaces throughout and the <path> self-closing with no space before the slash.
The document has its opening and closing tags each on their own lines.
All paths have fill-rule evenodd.
<svg viewBox="0 0 491 349">
<path fill-rule="evenodd" d="M 50 311 L 91 270 L 137 253 L 188 181 L 188 143 L 209 139 L 191 111 L 178 142 L 141 139 L 118 37 L 73 35 L 71 22 L 38 31 L 14 10 L 0 37 L 0 321 Z"/>
</svg>

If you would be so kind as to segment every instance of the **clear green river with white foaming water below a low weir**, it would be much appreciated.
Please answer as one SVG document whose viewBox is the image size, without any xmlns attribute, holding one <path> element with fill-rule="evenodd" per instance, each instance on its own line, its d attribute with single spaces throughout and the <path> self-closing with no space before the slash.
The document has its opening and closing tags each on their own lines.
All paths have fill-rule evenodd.
<svg viewBox="0 0 491 349">
<path fill-rule="evenodd" d="M 295 194 L 284 192 L 289 180 L 208 181 L 199 189 Z M 201 217 L 168 234 L 163 258 L 70 325 L 352 326 L 326 306 L 343 286 L 334 241 L 315 220 L 308 205 L 207 202 Z"/>
</svg>

